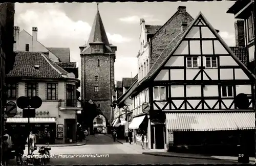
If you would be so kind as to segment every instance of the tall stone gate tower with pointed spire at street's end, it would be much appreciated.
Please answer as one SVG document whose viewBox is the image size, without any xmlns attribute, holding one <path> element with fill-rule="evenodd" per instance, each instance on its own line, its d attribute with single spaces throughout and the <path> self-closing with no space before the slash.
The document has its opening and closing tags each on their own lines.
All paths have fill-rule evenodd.
<svg viewBox="0 0 256 166">
<path fill-rule="evenodd" d="M 116 46 L 109 43 L 99 14 L 92 25 L 88 42 L 79 46 L 81 56 L 81 100 L 92 100 L 111 123 Z"/>
</svg>

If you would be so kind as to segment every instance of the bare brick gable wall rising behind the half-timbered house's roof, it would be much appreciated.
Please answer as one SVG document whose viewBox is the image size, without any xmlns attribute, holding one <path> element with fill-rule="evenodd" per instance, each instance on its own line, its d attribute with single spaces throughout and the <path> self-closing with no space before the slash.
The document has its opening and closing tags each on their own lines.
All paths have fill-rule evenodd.
<svg viewBox="0 0 256 166">
<path fill-rule="evenodd" d="M 188 24 L 194 19 L 186 12 L 185 7 L 178 8 L 173 19 L 168 20 L 152 38 L 152 55 L 150 57 L 150 66 L 155 63 L 164 48 L 178 35 L 181 31 L 181 23 L 186 21 Z"/>
</svg>

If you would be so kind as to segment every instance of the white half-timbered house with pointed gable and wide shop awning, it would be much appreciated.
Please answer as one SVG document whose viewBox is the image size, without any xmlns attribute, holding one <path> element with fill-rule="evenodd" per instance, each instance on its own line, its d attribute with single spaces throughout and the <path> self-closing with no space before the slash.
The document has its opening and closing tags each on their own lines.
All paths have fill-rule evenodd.
<svg viewBox="0 0 256 166">
<path fill-rule="evenodd" d="M 254 79 L 200 12 L 131 93 L 148 89 L 150 147 L 252 143 Z"/>
</svg>

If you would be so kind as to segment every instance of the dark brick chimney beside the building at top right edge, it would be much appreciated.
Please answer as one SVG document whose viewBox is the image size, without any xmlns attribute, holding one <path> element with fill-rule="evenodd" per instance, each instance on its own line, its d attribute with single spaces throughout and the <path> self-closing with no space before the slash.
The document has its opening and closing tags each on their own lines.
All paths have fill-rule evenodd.
<svg viewBox="0 0 256 166">
<path fill-rule="evenodd" d="M 236 46 L 245 46 L 244 20 L 234 22 L 234 35 L 236 37 Z"/>
</svg>

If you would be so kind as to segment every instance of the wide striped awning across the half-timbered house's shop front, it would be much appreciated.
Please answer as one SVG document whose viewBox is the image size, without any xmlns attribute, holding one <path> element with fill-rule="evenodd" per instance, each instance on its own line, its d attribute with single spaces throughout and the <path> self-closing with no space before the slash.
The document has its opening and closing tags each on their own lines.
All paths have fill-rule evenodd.
<svg viewBox="0 0 256 166">
<path fill-rule="evenodd" d="M 255 113 L 166 113 L 166 128 L 171 132 L 255 129 Z"/>
</svg>

